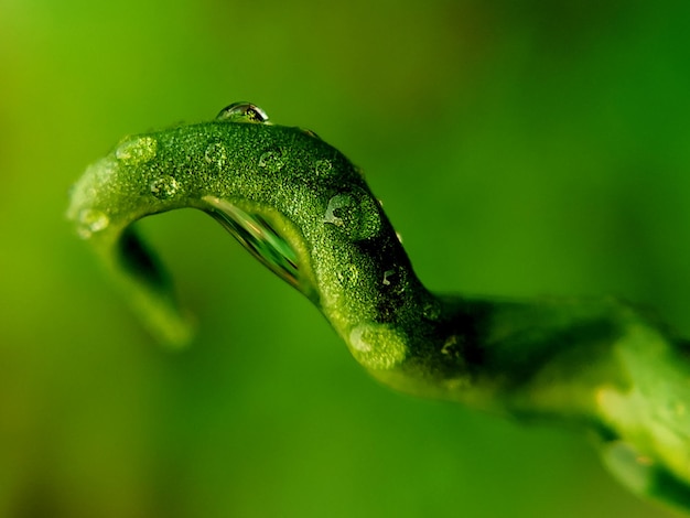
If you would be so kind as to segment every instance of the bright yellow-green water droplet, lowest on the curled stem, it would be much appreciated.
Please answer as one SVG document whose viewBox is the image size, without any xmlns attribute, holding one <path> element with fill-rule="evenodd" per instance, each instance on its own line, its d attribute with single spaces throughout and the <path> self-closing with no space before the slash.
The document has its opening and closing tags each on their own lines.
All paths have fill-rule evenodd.
<svg viewBox="0 0 690 518">
<path fill-rule="evenodd" d="M 360 324 L 349 333 L 353 356 L 365 367 L 390 369 L 407 356 L 405 337 L 389 325 Z"/>
</svg>

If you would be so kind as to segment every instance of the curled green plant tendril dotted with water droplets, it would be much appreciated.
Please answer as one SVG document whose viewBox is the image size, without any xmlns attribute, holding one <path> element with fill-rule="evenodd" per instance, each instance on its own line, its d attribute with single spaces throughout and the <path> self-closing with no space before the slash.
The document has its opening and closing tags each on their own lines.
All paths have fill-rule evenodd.
<svg viewBox="0 0 690 518">
<path fill-rule="evenodd" d="M 630 489 L 690 509 L 690 346 L 612 299 L 429 292 L 359 170 L 259 108 L 123 140 L 75 185 L 68 218 L 162 341 L 188 319 L 131 224 L 202 209 L 308 296 L 374 377 L 412 395 L 595 432 Z"/>
</svg>

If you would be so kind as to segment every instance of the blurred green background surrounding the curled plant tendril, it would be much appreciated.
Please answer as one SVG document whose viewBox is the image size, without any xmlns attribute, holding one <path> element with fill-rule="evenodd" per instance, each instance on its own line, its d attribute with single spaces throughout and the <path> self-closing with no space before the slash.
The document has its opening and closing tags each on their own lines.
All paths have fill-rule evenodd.
<svg viewBox="0 0 690 518">
<path fill-rule="evenodd" d="M 664 517 L 586 438 L 401 396 L 191 211 L 159 348 L 64 219 L 125 134 L 251 100 L 362 165 L 423 281 L 690 334 L 687 1 L 0 0 L 0 516 Z"/>
</svg>

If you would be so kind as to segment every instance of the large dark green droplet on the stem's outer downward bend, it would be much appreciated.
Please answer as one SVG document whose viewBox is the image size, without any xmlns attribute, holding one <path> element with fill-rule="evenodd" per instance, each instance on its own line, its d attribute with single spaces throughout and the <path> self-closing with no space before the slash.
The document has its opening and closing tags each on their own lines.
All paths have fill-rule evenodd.
<svg viewBox="0 0 690 518">
<path fill-rule="evenodd" d="M 328 201 L 324 223 L 342 228 L 347 236 L 359 241 L 369 239 L 381 228 L 377 203 L 366 193 L 336 194 Z"/>
</svg>

